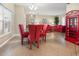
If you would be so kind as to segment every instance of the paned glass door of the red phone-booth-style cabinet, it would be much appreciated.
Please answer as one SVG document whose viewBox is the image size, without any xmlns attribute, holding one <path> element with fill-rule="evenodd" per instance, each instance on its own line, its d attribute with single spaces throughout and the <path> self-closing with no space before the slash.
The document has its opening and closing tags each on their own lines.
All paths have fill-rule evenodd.
<svg viewBox="0 0 79 59">
<path fill-rule="evenodd" d="M 77 18 L 73 17 L 69 19 L 69 36 L 75 38 L 76 31 L 77 31 Z"/>
</svg>

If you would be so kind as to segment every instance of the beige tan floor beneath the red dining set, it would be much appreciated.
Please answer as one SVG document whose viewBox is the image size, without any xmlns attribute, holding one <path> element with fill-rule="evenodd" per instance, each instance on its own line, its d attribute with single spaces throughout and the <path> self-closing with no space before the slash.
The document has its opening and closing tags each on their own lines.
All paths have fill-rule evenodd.
<svg viewBox="0 0 79 59">
<path fill-rule="evenodd" d="M 1 56 L 76 56 L 79 55 L 79 46 L 65 41 L 64 33 L 51 32 L 47 34 L 47 41 L 40 41 L 40 48 L 33 44 L 32 50 L 24 40 L 20 44 L 20 38 L 14 37 L 6 45 L 0 48 Z"/>
</svg>

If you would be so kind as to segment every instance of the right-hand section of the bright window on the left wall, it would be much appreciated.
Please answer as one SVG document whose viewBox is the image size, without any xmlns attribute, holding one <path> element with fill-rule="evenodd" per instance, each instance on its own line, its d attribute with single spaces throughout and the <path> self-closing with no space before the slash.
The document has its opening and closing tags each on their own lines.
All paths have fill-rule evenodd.
<svg viewBox="0 0 79 59">
<path fill-rule="evenodd" d="M 11 13 L 8 10 L 4 10 L 4 32 L 10 32 Z"/>
</svg>

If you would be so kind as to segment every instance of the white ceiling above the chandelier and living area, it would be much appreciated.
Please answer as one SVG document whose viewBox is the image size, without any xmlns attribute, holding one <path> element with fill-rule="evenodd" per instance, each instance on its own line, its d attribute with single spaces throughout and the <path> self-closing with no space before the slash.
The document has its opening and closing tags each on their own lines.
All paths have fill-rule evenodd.
<svg viewBox="0 0 79 59">
<path fill-rule="evenodd" d="M 29 11 L 29 6 L 34 5 L 38 7 L 36 12 L 39 15 L 64 15 L 66 12 L 66 3 L 18 3 L 22 5 L 25 10 Z"/>
</svg>

